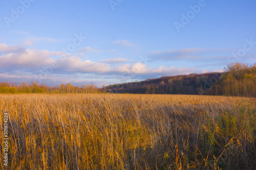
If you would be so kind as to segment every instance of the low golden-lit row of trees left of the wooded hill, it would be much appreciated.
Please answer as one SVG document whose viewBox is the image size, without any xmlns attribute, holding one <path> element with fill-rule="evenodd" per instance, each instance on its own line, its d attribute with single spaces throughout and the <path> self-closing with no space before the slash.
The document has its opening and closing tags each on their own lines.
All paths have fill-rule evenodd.
<svg viewBox="0 0 256 170">
<path fill-rule="evenodd" d="M 73 86 L 71 83 L 61 84 L 60 86 L 47 86 L 46 84 L 38 84 L 37 82 L 17 85 L 16 83 L 0 83 L 0 93 L 97 93 L 100 92 L 94 85 Z"/>
</svg>

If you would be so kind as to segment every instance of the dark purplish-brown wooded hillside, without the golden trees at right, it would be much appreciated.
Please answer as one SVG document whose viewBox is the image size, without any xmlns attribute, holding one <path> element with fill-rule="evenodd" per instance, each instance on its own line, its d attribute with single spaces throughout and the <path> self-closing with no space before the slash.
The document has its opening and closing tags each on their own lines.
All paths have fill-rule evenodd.
<svg viewBox="0 0 256 170">
<path fill-rule="evenodd" d="M 106 92 L 110 91 L 112 93 L 206 94 L 209 91 L 209 87 L 212 84 L 216 84 L 221 76 L 222 73 L 220 72 L 165 76 L 141 82 L 109 85 L 103 87 L 103 89 Z"/>
</svg>

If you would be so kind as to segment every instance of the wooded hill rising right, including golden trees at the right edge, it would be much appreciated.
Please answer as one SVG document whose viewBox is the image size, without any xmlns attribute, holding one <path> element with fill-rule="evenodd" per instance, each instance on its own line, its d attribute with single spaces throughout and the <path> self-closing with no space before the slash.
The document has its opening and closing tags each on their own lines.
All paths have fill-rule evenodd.
<svg viewBox="0 0 256 170">
<path fill-rule="evenodd" d="M 166 76 L 103 87 L 111 93 L 256 96 L 256 64 L 232 63 L 225 72 Z"/>
</svg>

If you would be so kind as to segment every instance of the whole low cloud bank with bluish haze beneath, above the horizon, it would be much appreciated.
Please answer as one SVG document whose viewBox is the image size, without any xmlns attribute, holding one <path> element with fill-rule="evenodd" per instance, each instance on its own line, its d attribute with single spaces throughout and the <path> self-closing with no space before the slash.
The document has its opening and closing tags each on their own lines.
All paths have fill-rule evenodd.
<svg viewBox="0 0 256 170">
<path fill-rule="evenodd" d="M 102 52 L 91 47 L 82 48 L 80 51 Z M 161 76 L 191 74 L 199 71 L 195 67 L 159 66 L 154 68 L 143 63 L 143 61 L 134 62 L 126 58 L 108 58 L 95 62 L 63 52 L 29 49 L 3 43 L 0 44 L 0 60 L 0 70 L 3 72 L 0 75 L 1 81 L 7 78 L 33 81 L 31 79 L 35 75 L 40 75 L 44 71 L 47 72 L 43 68 L 48 68 L 48 75 L 43 82 L 55 80 L 56 83 L 67 82 L 71 76 L 77 75 L 79 75 L 77 79 L 80 80 L 95 76 L 94 80 L 97 81 L 102 80 L 102 76 L 112 76 L 109 81 L 113 80 L 118 83 L 121 79 L 126 81 L 144 80 Z M 56 67 L 49 69 L 53 63 Z"/>
</svg>

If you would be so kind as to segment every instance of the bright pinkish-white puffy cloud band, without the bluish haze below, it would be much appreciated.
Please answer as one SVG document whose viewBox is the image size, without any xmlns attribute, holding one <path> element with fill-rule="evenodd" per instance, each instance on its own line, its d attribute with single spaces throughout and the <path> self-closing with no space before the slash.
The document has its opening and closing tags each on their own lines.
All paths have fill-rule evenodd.
<svg viewBox="0 0 256 170">
<path fill-rule="evenodd" d="M 12 46 L 8 46 L 6 44 L 2 44 L 6 49 L 9 49 L 8 52 L 13 50 L 13 52 L 0 56 L 1 58 L 1 67 L 2 68 L 31 68 L 31 67 L 40 67 L 42 65 L 51 65 L 53 61 L 58 63 L 58 69 L 71 71 L 71 72 L 91 72 L 93 74 L 122 74 L 124 72 L 133 72 L 135 74 L 151 74 L 151 73 L 165 73 L 167 74 L 169 71 L 184 72 L 183 69 L 179 70 L 179 68 L 175 67 L 163 67 L 159 68 L 148 68 L 146 64 L 141 62 L 136 62 L 135 64 L 124 64 L 119 65 L 117 67 L 111 67 L 109 63 L 113 62 L 126 62 L 130 61 L 125 58 L 113 58 L 106 59 L 100 62 L 93 62 L 91 60 L 83 61 L 81 58 L 77 56 L 68 56 L 67 54 L 63 54 L 62 52 L 50 52 L 48 50 L 36 50 L 36 49 L 27 49 L 22 52 L 16 52 L 16 49 L 19 47 L 12 48 Z M 53 59 L 52 56 L 68 56 L 65 59 Z"/>
</svg>

